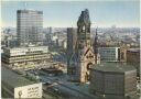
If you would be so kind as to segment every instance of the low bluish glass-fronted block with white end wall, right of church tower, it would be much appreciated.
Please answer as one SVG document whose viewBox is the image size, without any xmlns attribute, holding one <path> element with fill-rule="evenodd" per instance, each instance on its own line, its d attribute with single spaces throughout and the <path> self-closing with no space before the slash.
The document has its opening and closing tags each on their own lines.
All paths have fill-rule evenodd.
<svg viewBox="0 0 141 99">
<path fill-rule="evenodd" d="M 119 62 L 120 61 L 120 47 L 99 47 L 101 62 Z"/>
</svg>

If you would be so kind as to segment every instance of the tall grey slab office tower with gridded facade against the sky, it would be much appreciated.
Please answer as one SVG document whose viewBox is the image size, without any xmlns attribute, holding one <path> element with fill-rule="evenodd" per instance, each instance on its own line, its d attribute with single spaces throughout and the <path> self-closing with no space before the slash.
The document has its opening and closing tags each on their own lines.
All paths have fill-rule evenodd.
<svg viewBox="0 0 141 99">
<path fill-rule="evenodd" d="M 17 33 L 19 46 L 40 44 L 39 33 L 43 29 L 43 12 L 34 10 L 17 11 Z"/>
</svg>

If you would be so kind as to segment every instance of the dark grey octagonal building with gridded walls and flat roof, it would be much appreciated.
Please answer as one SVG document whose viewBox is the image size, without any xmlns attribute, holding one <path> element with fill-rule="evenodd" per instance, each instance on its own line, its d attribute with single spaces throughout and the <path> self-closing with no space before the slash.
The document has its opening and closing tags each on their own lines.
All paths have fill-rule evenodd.
<svg viewBox="0 0 141 99">
<path fill-rule="evenodd" d="M 139 99 L 137 70 L 123 64 L 105 63 L 90 70 L 90 92 L 100 99 Z"/>
</svg>

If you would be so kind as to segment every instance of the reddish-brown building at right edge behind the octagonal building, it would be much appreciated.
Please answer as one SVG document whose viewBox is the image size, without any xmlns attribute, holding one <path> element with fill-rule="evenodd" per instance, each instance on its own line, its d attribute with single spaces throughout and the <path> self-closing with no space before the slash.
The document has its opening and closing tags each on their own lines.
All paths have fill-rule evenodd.
<svg viewBox="0 0 141 99">
<path fill-rule="evenodd" d="M 127 51 L 127 64 L 137 68 L 137 74 L 140 77 L 140 48 L 129 48 Z"/>
</svg>

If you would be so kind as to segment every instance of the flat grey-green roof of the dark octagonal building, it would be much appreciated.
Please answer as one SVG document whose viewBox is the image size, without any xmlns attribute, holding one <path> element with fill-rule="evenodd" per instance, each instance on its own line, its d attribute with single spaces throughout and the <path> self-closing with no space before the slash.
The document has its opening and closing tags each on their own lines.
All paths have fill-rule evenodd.
<svg viewBox="0 0 141 99">
<path fill-rule="evenodd" d="M 121 64 L 121 63 L 102 63 L 94 66 L 95 70 L 111 72 L 111 73 L 126 73 L 135 70 L 133 66 Z"/>
</svg>

